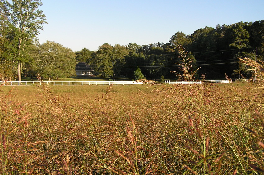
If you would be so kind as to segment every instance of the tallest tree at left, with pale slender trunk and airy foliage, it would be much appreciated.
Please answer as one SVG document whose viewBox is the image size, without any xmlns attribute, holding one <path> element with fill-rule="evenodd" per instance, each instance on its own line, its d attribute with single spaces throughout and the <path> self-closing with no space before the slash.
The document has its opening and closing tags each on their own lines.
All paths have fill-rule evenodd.
<svg viewBox="0 0 264 175">
<path fill-rule="evenodd" d="M 18 80 L 21 81 L 22 63 L 28 61 L 25 48 L 39 34 L 46 22 L 46 16 L 39 10 L 40 0 L 12 0 L 2 3 L 7 11 L 7 22 L 16 28 L 13 34 L 17 37 L 15 60 L 18 62 Z"/>
</svg>

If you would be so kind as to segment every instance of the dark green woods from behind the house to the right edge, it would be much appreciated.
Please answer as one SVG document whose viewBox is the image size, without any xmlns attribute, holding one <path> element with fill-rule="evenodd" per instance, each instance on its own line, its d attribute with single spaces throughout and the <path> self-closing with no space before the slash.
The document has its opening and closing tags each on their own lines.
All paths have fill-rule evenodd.
<svg viewBox="0 0 264 175">
<path fill-rule="evenodd" d="M 183 72 L 179 66 L 182 63 L 179 46 L 185 48 L 192 68 L 199 68 L 196 78 L 202 75 L 210 79 L 224 78 L 225 75 L 250 78 L 252 72 L 238 58 L 263 60 L 264 20 L 200 28 L 190 35 L 178 31 L 168 43 L 142 46 L 105 43 L 97 51 L 84 48 L 76 52 L 76 60 L 90 64 L 99 76 L 132 77 L 133 71 L 139 67 L 149 79 L 160 76 L 180 79 Z"/>
</svg>

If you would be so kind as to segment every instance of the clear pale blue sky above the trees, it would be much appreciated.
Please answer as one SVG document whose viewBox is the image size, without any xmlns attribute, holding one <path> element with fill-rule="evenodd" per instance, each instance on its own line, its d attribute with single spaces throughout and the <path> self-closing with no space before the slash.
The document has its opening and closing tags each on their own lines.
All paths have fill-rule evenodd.
<svg viewBox="0 0 264 175">
<path fill-rule="evenodd" d="M 42 0 L 49 24 L 39 42 L 74 52 L 104 43 L 167 43 L 177 31 L 264 20 L 264 0 Z"/>
</svg>

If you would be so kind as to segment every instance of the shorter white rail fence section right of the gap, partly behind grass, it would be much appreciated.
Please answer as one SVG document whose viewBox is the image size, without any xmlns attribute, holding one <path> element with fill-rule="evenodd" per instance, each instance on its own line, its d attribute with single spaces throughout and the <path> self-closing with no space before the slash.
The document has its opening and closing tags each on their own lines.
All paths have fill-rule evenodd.
<svg viewBox="0 0 264 175">
<path fill-rule="evenodd" d="M 213 84 L 213 83 L 234 83 L 239 80 L 199 80 L 199 81 L 171 81 L 166 80 L 167 84 Z M 243 81 L 254 81 L 254 79 L 243 79 Z"/>
</svg>

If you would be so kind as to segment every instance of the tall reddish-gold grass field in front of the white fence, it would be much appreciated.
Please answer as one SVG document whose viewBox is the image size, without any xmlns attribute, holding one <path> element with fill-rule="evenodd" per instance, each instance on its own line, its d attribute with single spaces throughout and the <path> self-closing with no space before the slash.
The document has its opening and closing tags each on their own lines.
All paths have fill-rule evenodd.
<svg viewBox="0 0 264 175">
<path fill-rule="evenodd" d="M 1 85 L 0 173 L 263 174 L 264 74 L 241 60 L 255 83 Z"/>
</svg>

